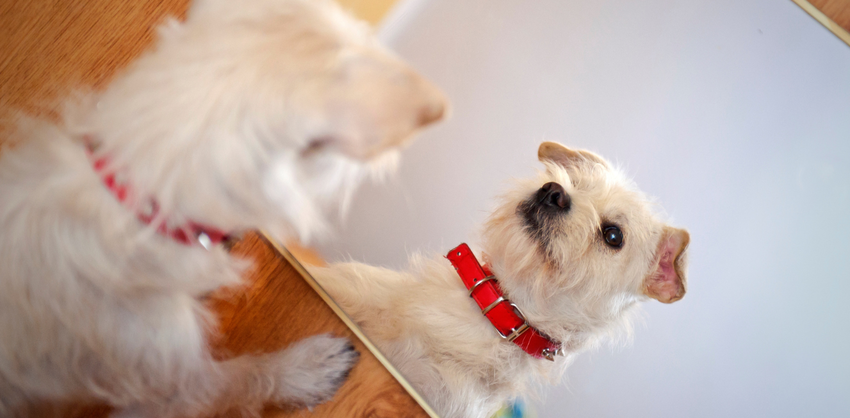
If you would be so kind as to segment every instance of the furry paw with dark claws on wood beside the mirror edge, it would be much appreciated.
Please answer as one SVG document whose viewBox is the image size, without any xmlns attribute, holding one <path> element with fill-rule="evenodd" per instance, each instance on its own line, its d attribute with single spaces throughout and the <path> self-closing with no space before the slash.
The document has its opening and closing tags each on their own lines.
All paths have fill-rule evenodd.
<svg viewBox="0 0 850 418">
<path fill-rule="evenodd" d="M 330 400 L 360 358 L 347 338 L 317 335 L 281 351 L 274 402 L 312 407 Z"/>
</svg>

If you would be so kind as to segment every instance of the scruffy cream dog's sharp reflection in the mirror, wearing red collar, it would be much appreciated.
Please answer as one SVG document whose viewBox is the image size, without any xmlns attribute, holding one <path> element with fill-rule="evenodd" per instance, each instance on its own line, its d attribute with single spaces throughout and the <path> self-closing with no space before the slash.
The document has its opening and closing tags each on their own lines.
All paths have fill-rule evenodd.
<svg viewBox="0 0 850 418">
<path fill-rule="evenodd" d="M 627 331 L 637 302 L 685 294 L 686 231 L 599 156 L 547 142 L 539 157 L 487 221 L 483 268 L 464 244 L 407 272 L 310 270 L 443 418 L 492 416 Z"/>
</svg>

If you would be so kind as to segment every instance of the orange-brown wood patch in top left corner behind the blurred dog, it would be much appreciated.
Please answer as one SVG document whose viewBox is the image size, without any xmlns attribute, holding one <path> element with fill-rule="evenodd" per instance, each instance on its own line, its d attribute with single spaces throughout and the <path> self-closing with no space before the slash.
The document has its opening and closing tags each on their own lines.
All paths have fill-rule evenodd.
<svg viewBox="0 0 850 418">
<path fill-rule="evenodd" d="M 56 116 L 75 89 L 103 87 L 189 0 L 0 2 L 0 106 Z"/>
</svg>

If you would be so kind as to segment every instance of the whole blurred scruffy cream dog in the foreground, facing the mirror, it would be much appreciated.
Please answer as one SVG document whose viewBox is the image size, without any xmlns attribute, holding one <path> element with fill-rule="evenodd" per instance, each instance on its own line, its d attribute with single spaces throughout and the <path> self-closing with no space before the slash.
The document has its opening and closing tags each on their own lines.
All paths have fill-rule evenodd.
<svg viewBox="0 0 850 418">
<path fill-rule="evenodd" d="M 0 157 L 0 417 L 331 397 L 357 359 L 346 339 L 212 359 L 199 299 L 244 267 L 218 244 L 322 231 L 323 210 L 444 107 L 330 0 L 198 0 L 105 91 L 61 124 L 24 123 Z"/>
</svg>

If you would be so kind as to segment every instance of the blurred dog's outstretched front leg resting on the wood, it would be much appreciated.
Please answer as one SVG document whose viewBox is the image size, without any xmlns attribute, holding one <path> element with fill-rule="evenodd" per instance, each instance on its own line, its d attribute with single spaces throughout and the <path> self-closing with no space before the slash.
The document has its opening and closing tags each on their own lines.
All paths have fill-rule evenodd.
<svg viewBox="0 0 850 418">
<path fill-rule="evenodd" d="M 234 409 L 256 414 L 267 403 L 312 407 L 333 397 L 359 357 L 347 338 L 317 335 L 276 353 L 210 361 L 182 385 L 181 393 L 114 416 L 185 417 Z"/>
</svg>

